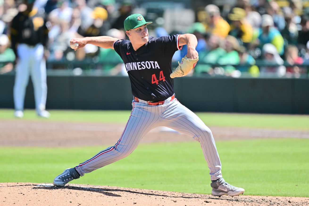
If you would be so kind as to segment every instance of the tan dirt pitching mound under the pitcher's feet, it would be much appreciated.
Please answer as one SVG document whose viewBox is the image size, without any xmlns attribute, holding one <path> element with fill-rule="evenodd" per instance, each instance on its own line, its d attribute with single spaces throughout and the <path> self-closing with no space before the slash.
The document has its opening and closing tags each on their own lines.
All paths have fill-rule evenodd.
<svg viewBox="0 0 309 206">
<path fill-rule="evenodd" d="M 238 197 L 189 194 L 123 187 L 68 184 L 53 187 L 50 183 L 0 183 L 0 205 L 50 205 L 50 206 L 98 206 L 98 205 L 309 205 L 303 197 Z"/>
</svg>

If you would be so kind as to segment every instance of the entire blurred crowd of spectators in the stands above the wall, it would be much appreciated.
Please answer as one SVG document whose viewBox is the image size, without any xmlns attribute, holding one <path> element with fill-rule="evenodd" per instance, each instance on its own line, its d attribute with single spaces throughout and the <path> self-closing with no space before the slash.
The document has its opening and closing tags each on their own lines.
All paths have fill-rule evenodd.
<svg viewBox="0 0 309 206">
<path fill-rule="evenodd" d="M 154 19 L 156 24 L 149 28 L 149 34 L 159 37 L 193 33 L 198 39 L 199 53 L 199 62 L 192 71 L 195 75 L 308 77 L 306 2 L 236 0 L 233 5 L 209 4 L 191 9 L 195 19 L 190 26 L 182 30 L 167 28 L 161 16 Z M 66 69 L 70 62 L 78 62 L 74 67 L 80 67 L 81 72 L 92 70 L 107 75 L 126 75 L 124 64 L 113 49 L 86 45 L 74 51 L 70 39 L 105 35 L 126 39 L 123 22 L 127 16 L 141 13 L 150 18 L 132 0 L 36 0 L 34 7 L 45 15 L 49 29 L 44 55 L 48 69 Z M 25 9 L 22 0 L 0 0 L 0 74 L 14 68 L 10 24 Z M 184 46 L 175 53 L 173 61 L 181 61 L 185 54 Z"/>
</svg>

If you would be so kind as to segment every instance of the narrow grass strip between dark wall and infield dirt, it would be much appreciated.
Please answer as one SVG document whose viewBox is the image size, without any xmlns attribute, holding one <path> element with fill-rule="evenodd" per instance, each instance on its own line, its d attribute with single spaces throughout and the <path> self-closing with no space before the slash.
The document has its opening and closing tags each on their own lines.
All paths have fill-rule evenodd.
<svg viewBox="0 0 309 206">
<path fill-rule="evenodd" d="M 0 109 L 1 119 L 15 119 L 14 110 Z M 25 110 L 24 120 L 125 123 L 131 111 L 50 110 L 49 119 L 40 119 L 34 110 Z M 309 130 L 309 115 L 196 113 L 207 126 Z"/>
</svg>

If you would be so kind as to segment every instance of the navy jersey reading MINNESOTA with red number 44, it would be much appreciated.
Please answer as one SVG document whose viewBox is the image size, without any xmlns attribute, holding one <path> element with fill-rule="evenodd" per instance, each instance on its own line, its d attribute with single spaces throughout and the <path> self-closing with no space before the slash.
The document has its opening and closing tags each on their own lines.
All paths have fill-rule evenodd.
<svg viewBox="0 0 309 206">
<path fill-rule="evenodd" d="M 179 47 L 179 36 L 149 36 L 137 51 L 131 41 L 117 40 L 113 48 L 129 74 L 132 94 L 145 101 L 163 101 L 174 94 L 171 60 Z"/>
</svg>

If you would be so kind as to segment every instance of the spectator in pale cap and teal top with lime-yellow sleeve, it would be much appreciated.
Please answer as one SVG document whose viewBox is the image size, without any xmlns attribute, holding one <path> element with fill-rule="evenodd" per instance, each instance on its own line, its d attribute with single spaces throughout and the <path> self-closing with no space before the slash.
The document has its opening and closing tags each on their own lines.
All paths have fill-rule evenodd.
<svg viewBox="0 0 309 206">
<path fill-rule="evenodd" d="M 284 53 L 284 40 L 281 33 L 273 26 L 273 17 L 264 14 L 262 15 L 262 28 L 258 31 L 258 41 L 255 44 L 262 48 L 268 43 L 273 44 L 280 55 Z"/>
</svg>

